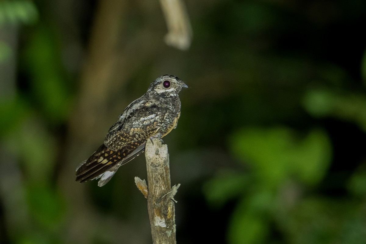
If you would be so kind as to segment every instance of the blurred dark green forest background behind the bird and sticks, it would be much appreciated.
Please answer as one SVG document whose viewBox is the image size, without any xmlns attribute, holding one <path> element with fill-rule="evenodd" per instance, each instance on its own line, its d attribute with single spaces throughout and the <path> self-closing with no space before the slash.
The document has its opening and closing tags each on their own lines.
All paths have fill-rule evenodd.
<svg viewBox="0 0 366 244">
<path fill-rule="evenodd" d="M 1 244 L 151 243 L 143 155 L 75 168 L 163 74 L 178 244 L 365 243 L 366 1 L 185 3 L 187 51 L 158 1 L 0 1 Z"/>
</svg>

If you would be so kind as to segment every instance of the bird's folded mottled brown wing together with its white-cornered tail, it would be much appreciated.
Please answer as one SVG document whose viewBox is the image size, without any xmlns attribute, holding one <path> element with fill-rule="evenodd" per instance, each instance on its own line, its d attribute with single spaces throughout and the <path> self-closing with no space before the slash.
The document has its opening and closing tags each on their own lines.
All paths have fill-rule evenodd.
<svg viewBox="0 0 366 244">
<path fill-rule="evenodd" d="M 119 166 L 143 152 L 146 140 L 158 133 L 167 112 L 149 103 L 130 104 L 109 129 L 104 144 L 76 169 L 76 181 L 101 178 L 98 185 L 106 184 Z"/>
</svg>

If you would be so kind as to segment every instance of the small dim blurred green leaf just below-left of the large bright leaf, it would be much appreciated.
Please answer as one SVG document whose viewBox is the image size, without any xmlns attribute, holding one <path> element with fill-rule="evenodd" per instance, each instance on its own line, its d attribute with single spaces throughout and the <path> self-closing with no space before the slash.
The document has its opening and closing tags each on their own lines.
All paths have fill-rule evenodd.
<svg viewBox="0 0 366 244">
<path fill-rule="evenodd" d="M 245 173 L 223 171 L 206 181 L 203 193 L 211 206 L 220 208 L 227 201 L 243 194 L 249 183 L 250 178 Z"/>
</svg>

